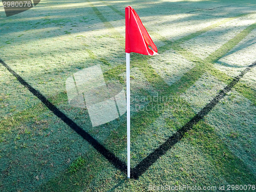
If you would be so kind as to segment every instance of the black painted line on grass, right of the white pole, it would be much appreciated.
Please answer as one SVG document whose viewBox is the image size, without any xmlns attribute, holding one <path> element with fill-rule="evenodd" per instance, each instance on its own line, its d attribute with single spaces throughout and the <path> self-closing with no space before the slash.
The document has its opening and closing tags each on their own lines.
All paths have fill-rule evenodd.
<svg viewBox="0 0 256 192">
<path fill-rule="evenodd" d="M 256 62 L 248 66 L 244 71 L 242 71 L 237 77 L 219 92 L 219 94 L 212 99 L 204 108 L 196 114 L 189 122 L 181 127 L 174 135 L 170 136 L 163 144 L 161 144 L 154 152 L 143 159 L 136 167 L 131 170 L 131 176 L 134 179 L 138 179 L 153 163 L 155 163 L 159 157 L 164 155 L 172 146 L 178 143 L 185 135 L 186 132 L 192 129 L 192 127 L 197 124 L 201 119 L 203 119 L 219 101 L 226 96 L 226 94 L 239 82 L 239 80 L 248 72 L 252 67 L 256 66 Z"/>
</svg>

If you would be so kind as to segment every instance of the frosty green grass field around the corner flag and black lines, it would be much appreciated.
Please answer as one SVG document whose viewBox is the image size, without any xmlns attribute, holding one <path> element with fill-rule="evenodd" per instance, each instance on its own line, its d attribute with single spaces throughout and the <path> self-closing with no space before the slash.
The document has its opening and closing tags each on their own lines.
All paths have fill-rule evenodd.
<svg viewBox="0 0 256 192">
<path fill-rule="evenodd" d="M 126 163 L 126 113 L 93 127 L 87 109 L 69 104 L 65 86 L 74 73 L 100 65 L 106 82 L 126 90 L 126 6 L 159 52 L 131 54 L 132 179 L 6 67 Z M 41 0 L 9 17 L 1 3 L 0 191 L 255 185 L 255 22 L 255 0 Z"/>
</svg>

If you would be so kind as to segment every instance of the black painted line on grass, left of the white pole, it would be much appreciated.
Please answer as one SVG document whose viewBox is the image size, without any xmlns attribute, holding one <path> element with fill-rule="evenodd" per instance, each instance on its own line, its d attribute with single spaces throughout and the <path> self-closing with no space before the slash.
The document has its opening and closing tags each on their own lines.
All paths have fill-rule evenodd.
<svg viewBox="0 0 256 192">
<path fill-rule="evenodd" d="M 71 127 L 77 134 L 79 134 L 83 139 L 87 140 L 101 155 L 103 155 L 110 163 L 112 163 L 116 168 L 120 169 L 122 172 L 126 173 L 127 167 L 124 162 L 118 159 L 113 153 L 107 150 L 102 144 L 100 144 L 96 139 L 94 139 L 89 133 L 84 131 L 79 125 L 77 125 L 73 120 L 62 113 L 55 105 L 53 105 L 44 95 L 39 91 L 34 89 L 29 83 L 27 83 L 22 77 L 20 77 L 15 71 L 13 71 L 2 59 L 0 59 L 2 65 L 13 74 L 17 80 L 23 84 L 34 96 L 36 96 L 42 103 L 44 103 L 49 110 L 51 110 L 57 117 L 59 117 L 63 122 Z"/>
</svg>

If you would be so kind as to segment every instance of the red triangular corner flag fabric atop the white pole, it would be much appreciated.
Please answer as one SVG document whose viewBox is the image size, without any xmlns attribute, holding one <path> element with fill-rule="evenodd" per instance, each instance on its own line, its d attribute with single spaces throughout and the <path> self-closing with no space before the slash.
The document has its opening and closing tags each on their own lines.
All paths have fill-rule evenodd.
<svg viewBox="0 0 256 192">
<path fill-rule="evenodd" d="M 158 55 L 156 45 L 141 23 L 140 17 L 130 6 L 125 8 L 125 52 Z"/>
</svg>

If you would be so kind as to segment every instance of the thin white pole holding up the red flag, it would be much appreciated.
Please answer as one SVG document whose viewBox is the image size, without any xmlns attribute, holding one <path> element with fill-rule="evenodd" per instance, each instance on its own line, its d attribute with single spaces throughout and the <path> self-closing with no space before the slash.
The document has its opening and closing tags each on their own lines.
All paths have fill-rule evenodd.
<svg viewBox="0 0 256 192">
<path fill-rule="evenodd" d="M 126 53 L 127 178 L 130 178 L 130 53 Z"/>
</svg>

